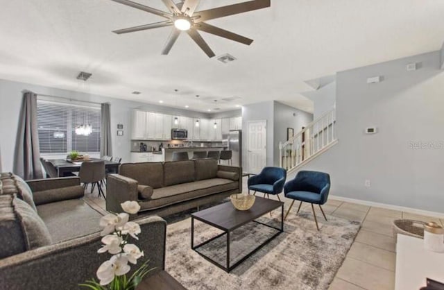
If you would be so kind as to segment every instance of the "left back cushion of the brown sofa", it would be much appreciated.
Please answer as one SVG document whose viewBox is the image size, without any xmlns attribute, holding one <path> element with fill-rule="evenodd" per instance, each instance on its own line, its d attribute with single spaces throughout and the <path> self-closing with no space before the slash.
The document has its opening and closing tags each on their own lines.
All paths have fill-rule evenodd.
<svg viewBox="0 0 444 290">
<path fill-rule="evenodd" d="M 123 163 L 119 174 L 133 178 L 139 185 L 149 185 L 153 188 L 163 186 L 164 169 L 162 162 Z"/>
</svg>

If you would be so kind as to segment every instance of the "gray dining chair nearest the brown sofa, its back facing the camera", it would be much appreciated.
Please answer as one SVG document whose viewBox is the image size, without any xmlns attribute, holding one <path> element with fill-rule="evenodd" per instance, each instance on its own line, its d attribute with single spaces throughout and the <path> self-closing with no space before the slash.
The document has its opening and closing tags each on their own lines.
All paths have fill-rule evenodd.
<svg viewBox="0 0 444 290">
<path fill-rule="evenodd" d="M 78 177 L 80 177 L 80 182 L 83 183 L 83 188 L 87 189 L 89 183 L 91 183 L 92 193 L 92 191 L 94 191 L 94 187 L 97 185 L 99 197 L 103 196 L 103 198 L 105 198 L 101 182 L 103 179 L 105 179 L 105 161 L 82 162 L 82 165 L 80 165 L 80 171 L 78 172 Z"/>
</svg>

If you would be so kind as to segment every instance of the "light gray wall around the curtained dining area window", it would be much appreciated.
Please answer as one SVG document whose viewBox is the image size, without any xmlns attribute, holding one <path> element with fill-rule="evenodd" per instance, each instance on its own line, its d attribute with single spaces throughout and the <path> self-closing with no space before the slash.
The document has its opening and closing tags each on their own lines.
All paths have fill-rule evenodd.
<svg viewBox="0 0 444 290">
<path fill-rule="evenodd" d="M 153 112 L 165 114 L 178 114 L 186 117 L 210 118 L 209 114 L 168 108 L 160 105 L 151 105 L 122 99 L 113 99 L 106 96 L 90 95 L 81 92 L 73 92 L 65 89 L 42 87 L 26 83 L 17 83 L 9 80 L 0 80 L 0 148 L 3 171 L 12 171 L 12 158 L 14 156 L 15 138 L 19 118 L 20 105 L 22 103 L 22 91 L 28 89 L 37 94 L 60 96 L 77 101 L 92 101 L 96 103 L 110 103 L 112 153 L 122 157 L 123 162 L 130 161 L 130 126 L 131 110 L 141 108 Z M 123 136 L 117 136 L 117 124 L 123 124 Z"/>
</svg>

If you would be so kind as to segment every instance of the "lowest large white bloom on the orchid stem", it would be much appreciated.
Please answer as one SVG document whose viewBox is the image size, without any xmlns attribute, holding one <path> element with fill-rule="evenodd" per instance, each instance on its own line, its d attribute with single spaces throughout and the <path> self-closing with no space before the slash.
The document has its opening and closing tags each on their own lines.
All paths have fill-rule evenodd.
<svg viewBox="0 0 444 290">
<path fill-rule="evenodd" d="M 114 255 L 109 261 L 103 262 L 97 269 L 97 278 L 105 286 L 114 280 L 114 276 L 125 275 L 130 271 L 128 258 L 124 255 Z"/>
</svg>

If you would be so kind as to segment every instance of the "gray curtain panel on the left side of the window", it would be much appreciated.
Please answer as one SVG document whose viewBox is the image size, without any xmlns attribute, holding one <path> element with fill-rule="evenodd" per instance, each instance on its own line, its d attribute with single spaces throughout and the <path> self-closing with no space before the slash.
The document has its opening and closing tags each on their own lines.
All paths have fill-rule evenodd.
<svg viewBox="0 0 444 290">
<path fill-rule="evenodd" d="M 14 173 L 24 180 L 43 178 L 37 133 L 37 94 L 23 94 L 15 142 Z"/>
</svg>

